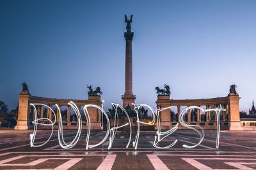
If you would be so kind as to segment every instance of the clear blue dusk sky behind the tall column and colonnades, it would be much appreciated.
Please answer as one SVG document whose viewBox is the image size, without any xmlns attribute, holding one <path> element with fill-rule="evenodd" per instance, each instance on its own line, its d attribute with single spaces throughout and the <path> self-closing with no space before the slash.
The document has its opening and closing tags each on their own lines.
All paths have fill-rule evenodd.
<svg viewBox="0 0 256 170">
<path fill-rule="evenodd" d="M 87 99 L 100 86 L 107 108 L 122 103 L 124 14 L 133 14 L 133 92 L 156 107 L 156 86 L 173 99 L 256 100 L 256 1 L 0 1 L 0 100 Z"/>
</svg>

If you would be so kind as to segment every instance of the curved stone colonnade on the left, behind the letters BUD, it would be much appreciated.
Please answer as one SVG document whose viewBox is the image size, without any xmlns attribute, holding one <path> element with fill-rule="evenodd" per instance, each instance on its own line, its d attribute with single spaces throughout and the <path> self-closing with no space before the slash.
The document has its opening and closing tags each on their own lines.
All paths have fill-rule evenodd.
<svg viewBox="0 0 256 170">
<path fill-rule="evenodd" d="M 86 104 L 95 104 L 97 106 L 102 106 L 102 101 L 100 100 L 100 96 L 89 96 L 88 100 L 77 100 L 77 99 L 52 99 L 47 97 L 36 97 L 31 96 L 28 92 L 21 92 L 19 95 L 19 114 L 18 114 L 18 120 L 17 125 L 15 126 L 15 129 L 22 130 L 22 129 L 30 129 L 32 124 L 32 121 L 35 120 L 35 113 L 33 106 L 30 105 L 30 103 L 36 104 L 45 104 L 49 106 L 47 108 L 43 105 L 36 105 L 36 111 L 38 113 L 38 118 L 49 118 L 50 120 L 54 120 L 52 116 L 52 110 L 56 113 L 56 127 L 58 128 L 58 122 L 60 121 L 60 113 L 57 110 L 57 107 L 55 104 L 58 104 L 61 108 L 67 107 L 67 118 L 63 118 L 63 114 L 61 115 L 63 120 L 63 126 L 65 126 L 65 129 L 76 129 L 77 124 L 76 122 L 70 121 L 70 115 L 71 115 L 71 106 L 68 105 L 70 101 L 73 101 L 76 103 L 78 109 L 81 111 L 81 115 L 83 117 L 83 111 L 81 108 Z M 46 115 L 44 115 L 44 110 L 47 108 Z M 92 129 L 101 129 L 101 112 L 97 110 L 97 108 L 88 108 L 88 113 L 90 115 L 90 122 L 91 122 L 91 128 Z M 42 124 L 49 124 L 49 121 L 40 121 Z M 83 124 L 86 123 L 83 121 Z M 47 129 L 47 127 L 42 125 L 41 129 Z M 86 129 L 86 126 L 83 126 L 84 129 Z"/>
</svg>

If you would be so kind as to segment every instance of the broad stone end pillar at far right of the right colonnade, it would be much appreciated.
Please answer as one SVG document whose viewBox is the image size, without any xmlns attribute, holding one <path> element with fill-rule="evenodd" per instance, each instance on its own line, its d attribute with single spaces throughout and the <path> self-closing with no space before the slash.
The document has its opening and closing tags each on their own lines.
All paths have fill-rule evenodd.
<svg viewBox="0 0 256 170">
<path fill-rule="evenodd" d="M 230 131 L 243 131 L 241 127 L 239 115 L 239 95 L 230 93 L 228 94 L 228 112 L 230 113 Z"/>
</svg>

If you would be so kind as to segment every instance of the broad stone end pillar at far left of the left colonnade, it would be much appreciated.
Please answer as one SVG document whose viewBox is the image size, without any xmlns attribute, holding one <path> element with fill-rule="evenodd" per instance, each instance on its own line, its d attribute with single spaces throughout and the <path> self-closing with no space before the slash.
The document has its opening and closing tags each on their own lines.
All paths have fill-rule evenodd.
<svg viewBox="0 0 256 170">
<path fill-rule="evenodd" d="M 21 92 L 19 95 L 19 113 L 15 130 L 28 129 L 29 93 Z"/>
</svg>

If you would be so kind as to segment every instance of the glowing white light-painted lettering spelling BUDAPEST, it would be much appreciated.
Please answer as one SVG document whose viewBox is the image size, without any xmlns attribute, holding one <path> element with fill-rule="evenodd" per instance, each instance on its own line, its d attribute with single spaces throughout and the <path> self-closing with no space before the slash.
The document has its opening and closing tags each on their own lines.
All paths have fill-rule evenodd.
<svg viewBox="0 0 256 170">
<path fill-rule="evenodd" d="M 31 103 L 31 106 L 33 106 L 34 108 L 34 114 L 35 114 L 35 120 L 33 120 L 33 124 L 35 124 L 34 126 L 34 131 L 33 134 L 30 134 L 30 146 L 31 147 L 40 147 L 45 145 L 52 136 L 53 133 L 53 129 L 54 129 L 54 124 L 56 124 L 56 113 L 54 113 L 54 110 L 52 110 L 51 107 L 45 105 L 45 104 L 40 104 L 40 103 Z M 52 112 L 52 114 L 54 115 L 54 121 L 52 122 L 52 120 L 50 120 L 49 118 L 38 118 L 37 117 L 37 111 L 36 111 L 36 106 L 45 106 L 47 108 L 50 109 L 50 111 Z M 65 149 L 69 149 L 74 147 L 77 142 L 79 141 L 79 138 L 81 136 L 81 132 L 82 132 L 82 117 L 81 117 L 81 113 L 79 108 L 76 106 L 75 103 L 73 103 L 72 101 L 70 101 L 70 103 L 68 103 L 68 105 L 70 105 L 72 107 L 72 109 L 74 110 L 76 117 L 77 117 L 77 122 L 78 122 L 78 129 L 77 129 L 77 133 L 76 136 L 74 137 L 74 139 L 69 142 L 68 144 L 65 142 L 64 138 L 63 138 L 63 122 L 62 122 L 62 118 L 61 118 L 61 111 L 60 111 L 60 107 L 58 106 L 58 104 L 55 104 L 57 111 L 59 113 L 59 117 L 60 117 L 60 121 L 59 121 L 59 127 L 58 127 L 58 142 L 61 146 L 61 148 L 65 148 Z M 103 108 L 101 108 L 100 106 L 94 105 L 94 104 L 86 104 L 84 105 L 83 108 L 83 114 L 86 118 L 86 122 L 87 122 L 87 134 L 86 134 L 86 150 L 88 150 L 88 148 L 94 148 L 97 147 L 99 145 L 102 145 L 102 143 L 104 143 L 107 139 L 109 139 L 109 145 L 108 145 L 108 149 L 110 149 L 113 145 L 113 141 L 115 139 L 116 136 L 116 132 L 118 131 L 118 129 L 128 126 L 130 129 L 130 134 L 129 134 L 129 139 L 127 141 L 127 145 L 126 148 L 129 148 L 129 145 L 132 141 L 132 146 L 134 147 L 134 149 L 136 150 L 138 147 L 138 142 L 139 142 L 139 137 L 140 137 L 140 124 L 146 124 L 146 125 L 156 125 L 156 136 L 154 139 L 154 144 L 153 146 L 155 148 L 171 148 L 172 146 L 174 146 L 177 143 L 177 139 L 175 139 L 175 141 L 173 141 L 172 143 L 170 143 L 170 145 L 168 146 L 160 146 L 159 143 L 166 137 L 170 136 L 171 134 L 173 134 L 173 132 L 177 131 L 178 129 L 178 125 L 180 123 L 180 125 L 191 129 L 195 132 L 198 133 L 198 135 L 200 136 L 200 141 L 193 146 L 189 146 L 189 145 L 182 145 L 184 148 L 195 148 L 196 146 L 200 145 L 200 143 L 202 143 L 202 141 L 204 140 L 204 129 L 200 126 L 200 125 L 189 125 L 186 124 L 186 122 L 184 122 L 184 116 L 186 115 L 186 113 L 188 112 L 188 110 L 192 110 L 192 109 L 199 109 L 203 112 L 206 111 L 214 111 L 214 113 L 216 113 L 216 120 L 217 120 L 217 136 L 216 136 L 216 148 L 219 148 L 219 143 L 220 143 L 220 115 L 221 115 L 221 111 L 226 111 L 225 109 L 221 108 L 211 108 L 211 109 L 206 109 L 204 110 L 204 108 L 200 108 L 198 106 L 190 106 L 188 108 L 186 108 L 185 110 L 182 110 L 182 112 L 179 115 L 179 123 L 177 123 L 174 127 L 172 127 L 172 129 L 169 129 L 168 131 L 161 131 L 161 120 L 160 120 L 160 113 L 163 110 L 170 110 L 172 106 L 169 106 L 167 108 L 161 108 L 161 109 L 157 109 L 154 110 L 153 108 L 151 108 L 150 106 L 148 106 L 147 104 L 133 104 L 134 105 L 134 111 L 136 112 L 136 122 L 137 122 L 137 132 L 136 132 L 136 138 L 134 141 L 132 141 L 132 124 L 131 124 L 131 120 L 129 118 L 129 115 L 127 113 L 127 111 L 125 111 L 125 109 L 120 105 L 120 104 L 115 104 L 112 103 L 113 108 L 115 109 L 115 117 L 114 117 L 114 126 L 110 127 L 110 122 L 109 122 L 109 118 L 107 113 L 103 110 Z M 142 122 L 140 121 L 139 118 L 139 110 L 142 107 L 146 107 L 148 108 L 151 112 L 152 112 L 152 121 L 151 122 Z M 97 108 L 98 110 L 102 111 L 102 115 L 104 115 L 104 117 L 106 117 L 106 122 L 107 122 L 107 129 L 106 129 L 106 135 L 104 136 L 104 138 L 102 139 L 102 141 L 100 141 L 99 143 L 95 144 L 95 145 L 89 145 L 90 143 L 90 132 L 91 132 L 91 121 L 90 121 L 90 115 L 88 112 L 88 108 Z M 119 118 L 118 118 L 118 113 L 117 110 L 118 108 L 120 108 L 122 111 L 124 111 L 125 116 L 127 117 L 128 122 L 126 124 L 122 124 L 119 125 Z M 40 122 L 38 122 L 40 121 Z M 41 121 L 49 121 L 49 124 L 42 124 Z M 47 139 L 47 141 L 45 141 L 44 143 L 42 143 L 41 145 L 34 145 L 35 143 L 35 138 L 36 138 L 36 131 L 38 128 L 38 125 L 45 125 L 45 126 L 50 126 L 52 127 L 52 131 L 51 131 L 51 135 L 49 136 L 49 138 Z M 198 129 L 200 129 L 200 131 L 198 131 Z"/>
</svg>

